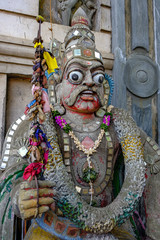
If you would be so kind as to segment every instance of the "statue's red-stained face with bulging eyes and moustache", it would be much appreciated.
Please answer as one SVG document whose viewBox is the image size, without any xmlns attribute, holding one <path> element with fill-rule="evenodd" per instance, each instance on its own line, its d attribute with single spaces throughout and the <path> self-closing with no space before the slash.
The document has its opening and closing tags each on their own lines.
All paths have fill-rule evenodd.
<svg viewBox="0 0 160 240">
<path fill-rule="evenodd" d="M 96 112 L 104 101 L 103 80 L 104 67 L 99 61 L 73 59 L 61 83 L 62 104 L 75 112 Z"/>
</svg>

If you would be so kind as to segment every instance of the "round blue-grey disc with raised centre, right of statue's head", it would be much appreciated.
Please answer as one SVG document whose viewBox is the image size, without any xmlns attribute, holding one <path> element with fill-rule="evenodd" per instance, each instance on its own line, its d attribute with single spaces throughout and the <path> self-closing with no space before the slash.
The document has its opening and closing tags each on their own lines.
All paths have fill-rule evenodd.
<svg viewBox="0 0 160 240">
<path fill-rule="evenodd" d="M 132 55 L 125 67 L 125 84 L 138 97 L 150 97 L 158 90 L 158 67 L 147 56 Z"/>
</svg>

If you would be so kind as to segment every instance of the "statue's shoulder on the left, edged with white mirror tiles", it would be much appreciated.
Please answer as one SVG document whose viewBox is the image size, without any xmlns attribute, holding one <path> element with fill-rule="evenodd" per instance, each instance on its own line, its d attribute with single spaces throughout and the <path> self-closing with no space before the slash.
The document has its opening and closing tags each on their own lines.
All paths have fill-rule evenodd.
<svg viewBox="0 0 160 240">
<path fill-rule="evenodd" d="M 25 119 L 25 115 L 19 117 L 9 128 L 3 144 L 2 158 L 0 162 L 1 170 L 15 165 L 25 160 L 30 121 Z"/>
</svg>

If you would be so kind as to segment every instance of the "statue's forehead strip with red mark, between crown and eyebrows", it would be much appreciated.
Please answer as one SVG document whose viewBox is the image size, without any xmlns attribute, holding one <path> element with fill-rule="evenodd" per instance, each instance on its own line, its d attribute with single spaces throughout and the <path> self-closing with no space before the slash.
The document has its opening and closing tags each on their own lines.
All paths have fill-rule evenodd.
<svg viewBox="0 0 160 240">
<path fill-rule="evenodd" d="M 65 71 L 67 71 L 70 67 L 77 66 L 83 68 L 96 68 L 102 67 L 104 68 L 103 64 L 97 60 L 84 60 L 84 59 L 72 59 L 66 66 Z"/>
</svg>

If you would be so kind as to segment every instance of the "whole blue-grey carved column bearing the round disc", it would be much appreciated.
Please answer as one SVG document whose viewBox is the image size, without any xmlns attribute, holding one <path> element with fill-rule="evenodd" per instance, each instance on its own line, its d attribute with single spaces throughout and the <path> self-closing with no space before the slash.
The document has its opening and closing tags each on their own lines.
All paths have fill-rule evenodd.
<svg viewBox="0 0 160 240">
<path fill-rule="evenodd" d="M 156 0 L 112 1 L 113 104 L 127 109 L 137 125 L 158 140 L 159 68 L 155 61 L 153 3 L 159 4 Z"/>
</svg>

